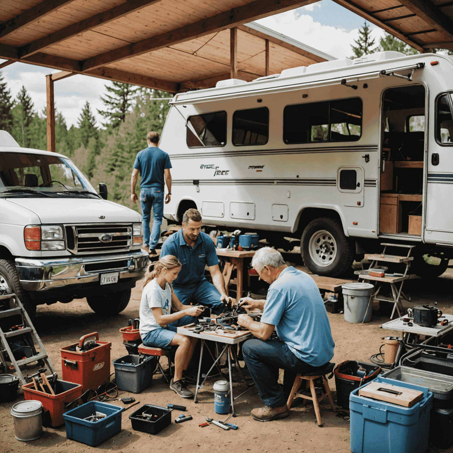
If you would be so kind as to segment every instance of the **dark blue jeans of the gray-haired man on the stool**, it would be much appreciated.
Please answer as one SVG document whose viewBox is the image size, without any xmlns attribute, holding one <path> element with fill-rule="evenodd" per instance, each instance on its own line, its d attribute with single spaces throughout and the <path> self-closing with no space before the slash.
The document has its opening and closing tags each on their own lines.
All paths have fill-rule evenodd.
<svg viewBox="0 0 453 453">
<path fill-rule="evenodd" d="M 242 355 L 261 401 L 270 407 L 282 407 L 286 404 L 297 373 L 313 373 L 325 366 L 311 366 L 305 363 L 279 339 L 247 340 L 242 345 Z M 283 388 L 288 396 L 284 396 L 278 384 L 279 368 L 284 370 Z"/>
</svg>

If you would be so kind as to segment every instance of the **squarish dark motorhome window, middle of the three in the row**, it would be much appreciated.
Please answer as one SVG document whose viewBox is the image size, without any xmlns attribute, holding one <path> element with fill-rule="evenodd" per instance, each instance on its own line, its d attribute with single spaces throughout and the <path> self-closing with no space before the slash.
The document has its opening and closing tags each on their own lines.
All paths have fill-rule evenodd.
<svg viewBox="0 0 453 453">
<path fill-rule="evenodd" d="M 233 114 L 233 145 L 265 145 L 269 138 L 269 109 L 236 110 Z"/>
</svg>

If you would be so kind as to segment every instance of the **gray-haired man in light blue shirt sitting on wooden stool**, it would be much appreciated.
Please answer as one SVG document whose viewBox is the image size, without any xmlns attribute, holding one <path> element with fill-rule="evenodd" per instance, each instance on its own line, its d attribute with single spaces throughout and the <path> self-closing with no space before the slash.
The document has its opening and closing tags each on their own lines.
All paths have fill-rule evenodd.
<svg viewBox="0 0 453 453">
<path fill-rule="evenodd" d="M 255 420 L 270 421 L 289 415 L 286 401 L 297 373 L 321 370 L 333 357 L 332 333 L 323 299 L 314 280 L 285 264 L 280 252 L 263 247 L 252 266 L 270 284 L 265 300 L 243 299 L 244 308 L 260 308 L 261 322 L 246 314 L 237 323 L 256 337 L 244 342 L 244 361 L 255 381 L 263 408 L 253 409 Z M 278 338 L 270 339 L 276 330 Z M 284 370 L 283 391 L 278 384 Z"/>
</svg>

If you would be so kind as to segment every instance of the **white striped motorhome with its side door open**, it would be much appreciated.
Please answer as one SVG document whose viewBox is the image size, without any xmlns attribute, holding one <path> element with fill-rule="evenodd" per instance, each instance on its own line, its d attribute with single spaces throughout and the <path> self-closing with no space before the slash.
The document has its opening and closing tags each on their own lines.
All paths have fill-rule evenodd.
<svg viewBox="0 0 453 453">
<path fill-rule="evenodd" d="M 298 237 L 318 275 L 389 240 L 440 275 L 453 258 L 452 74 L 447 55 L 382 52 L 178 94 L 159 145 L 173 165 L 164 216 L 197 207 L 208 225 Z"/>
</svg>

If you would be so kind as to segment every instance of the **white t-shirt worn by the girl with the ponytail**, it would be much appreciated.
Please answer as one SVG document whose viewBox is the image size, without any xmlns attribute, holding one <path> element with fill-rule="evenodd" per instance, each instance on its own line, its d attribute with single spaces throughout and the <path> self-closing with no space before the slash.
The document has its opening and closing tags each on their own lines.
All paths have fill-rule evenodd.
<svg viewBox="0 0 453 453">
<path fill-rule="evenodd" d="M 140 337 L 143 339 L 147 333 L 160 328 L 154 318 L 152 308 L 162 308 L 162 314 L 170 313 L 172 287 L 169 283 L 162 289 L 156 279 L 151 280 L 143 288 L 140 301 Z"/>
</svg>

